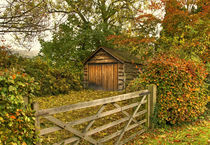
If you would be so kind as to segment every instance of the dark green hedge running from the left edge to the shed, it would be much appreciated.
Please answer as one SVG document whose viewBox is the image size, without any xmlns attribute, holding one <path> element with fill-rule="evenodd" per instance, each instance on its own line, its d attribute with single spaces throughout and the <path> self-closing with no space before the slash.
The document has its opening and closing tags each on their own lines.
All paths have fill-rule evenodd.
<svg viewBox="0 0 210 145">
<path fill-rule="evenodd" d="M 2 68 L 15 68 L 19 72 L 33 77 L 40 90 L 36 96 L 66 94 L 70 90 L 82 89 L 82 71 L 75 71 L 71 67 L 51 66 L 41 57 L 23 58 L 10 54 L 6 47 L 0 49 L 0 66 Z"/>
</svg>

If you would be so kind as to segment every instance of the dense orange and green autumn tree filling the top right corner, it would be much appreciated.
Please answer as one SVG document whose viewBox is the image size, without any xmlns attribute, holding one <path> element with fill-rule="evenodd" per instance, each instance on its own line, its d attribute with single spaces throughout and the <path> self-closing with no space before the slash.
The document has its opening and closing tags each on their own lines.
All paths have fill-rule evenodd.
<svg viewBox="0 0 210 145">
<path fill-rule="evenodd" d="M 192 3 L 193 2 L 193 3 Z M 182 58 L 208 62 L 209 2 L 169 0 L 157 47 Z"/>
</svg>

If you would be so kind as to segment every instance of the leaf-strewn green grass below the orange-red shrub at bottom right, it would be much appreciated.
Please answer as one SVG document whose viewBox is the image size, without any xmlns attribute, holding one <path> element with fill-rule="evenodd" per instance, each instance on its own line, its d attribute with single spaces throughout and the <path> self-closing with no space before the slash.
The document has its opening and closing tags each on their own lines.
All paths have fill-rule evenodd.
<svg viewBox="0 0 210 145">
<path fill-rule="evenodd" d="M 136 138 L 134 145 L 208 145 L 210 121 L 202 120 L 182 126 L 150 130 Z"/>
</svg>

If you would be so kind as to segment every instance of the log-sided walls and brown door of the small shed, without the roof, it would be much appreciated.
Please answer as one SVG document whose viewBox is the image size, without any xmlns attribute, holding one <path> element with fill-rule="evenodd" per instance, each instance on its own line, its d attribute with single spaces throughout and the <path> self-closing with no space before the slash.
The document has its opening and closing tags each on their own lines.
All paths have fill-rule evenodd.
<svg viewBox="0 0 210 145">
<path fill-rule="evenodd" d="M 84 87 L 95 85 L 95 89 L 123 90 L 138 76 L 140 66 L 136 66 L 121 63 L 106 51 L 100 50 L 84 66 Z"/>
</svg>

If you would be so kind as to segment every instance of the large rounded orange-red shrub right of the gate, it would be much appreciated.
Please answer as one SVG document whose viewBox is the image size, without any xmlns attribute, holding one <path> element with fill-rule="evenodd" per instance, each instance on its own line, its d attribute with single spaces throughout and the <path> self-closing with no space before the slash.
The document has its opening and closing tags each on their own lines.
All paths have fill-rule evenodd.
<svg viewBox="0 0 210 145">
<path fill-rule="evenodd" d="M 204 65 L 179 57 L 159 55 L 149 60 L 145 71 L 132 81 L 127 90 L 156 84 L 158 89 L 155 119 L 157 124 L 191 122 L 204 113 L 208 98 Z"/>
</svg>

